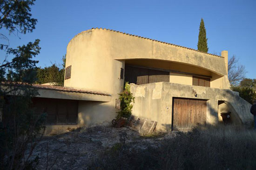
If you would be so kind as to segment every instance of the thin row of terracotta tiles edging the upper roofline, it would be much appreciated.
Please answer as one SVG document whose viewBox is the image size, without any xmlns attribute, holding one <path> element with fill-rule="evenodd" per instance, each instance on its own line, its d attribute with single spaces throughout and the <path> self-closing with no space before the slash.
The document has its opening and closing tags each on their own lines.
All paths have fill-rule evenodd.
<svg viewBox="0 0 256 170">
<path fill-rule="evenodd" d="M 138 37 L 138 38 L 141 38 L 141 39 L 149 39 L 149 38 L 145 38 L 145 37 L 141 37 L 141 36 L 138 36 L 138 35 L 133 35 L 133 34 L 129 34 L 129 33 L 123 33 L 123 32 L 120 32 L 120 31 L 115 31 L 115 30 L 111 30 L 111 29 L 106 29 L 106 28 L 92 28 L 92 29 L 102 29 L 102 30 L 108 30 L 108 31 L 112 31 L 112 32 L 116 32 L 116 33 L 122 33 L 122 34 L 126 34 L 126 35 L 129 35 L 129 36 L 135 36 L 135 37 Z M 86 31 L 83 31 L 81 33 L 85 33 L 87 32 L 88 30 Z M 79 34 L 81 34 L 79 33 Z M 77 34 L 77 35 L 79 35 Z M 76 36 L 75 36 L 76 37 Z M 168 45 L 171 45 L 171 46 L 178 46 L 178 45 L 175 45 L 175 44 L 171 44 L 171 43 L 167 43 L 167 42 L 163 42 L 163 41 L 158 41 L 158 40 L 155 40 L 155 39 L 149 39 L 149 40 L 152 40 L 152 41 L 156 41 L 156 42 L 160 42 L 160 43 L 164 43 L 164 44 L 168 44 Z M 193 50 L 193 51 L 196 51 L 196 52 L 201 52 L 201 51 L 198 51 L 198 50 L 195 50 L 193 48 L 188 48 L 188 47 L 185 47 L 185 46 L 178 46 L 178 47 L 181 47 L 181 48 L 186 48 L 186 49 L 189 49 L 189 50 Z M 220 58 L 224 58 L 222 56 L 218 56 L 218 55 L 215 55 L 215 54 L 210 54 L 210 53 L 207 53 L 207 52 L 201 52 L 201 53 L 205 53 L 205 54 L 209 54 L 209 55 L 212 55 L 212 56 L 216 56 L 216 57 L 220 57 Z"/>
</svg>

